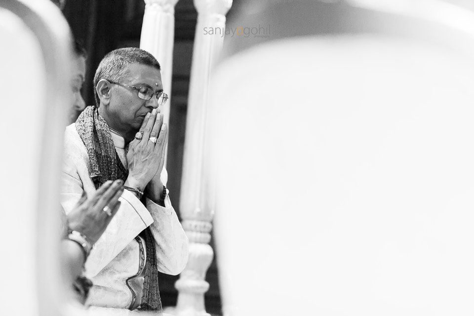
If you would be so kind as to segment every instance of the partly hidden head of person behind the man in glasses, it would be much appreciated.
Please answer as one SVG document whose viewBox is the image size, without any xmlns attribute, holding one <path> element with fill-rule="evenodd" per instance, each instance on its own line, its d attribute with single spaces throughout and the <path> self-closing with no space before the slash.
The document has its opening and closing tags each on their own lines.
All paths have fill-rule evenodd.
<svg viewBox="0 0 474 316">
<path fill-rule="evenodd" d="M 80 90 L 85 79 L 85 49 L 75 41 L 74 43 L 74 62 L 71 88 L 73 90 L 73 106 L 70 112 L 70 123 L 76 121 L 79 114 L 85 109 L 85 102 Z"/>
</svg>

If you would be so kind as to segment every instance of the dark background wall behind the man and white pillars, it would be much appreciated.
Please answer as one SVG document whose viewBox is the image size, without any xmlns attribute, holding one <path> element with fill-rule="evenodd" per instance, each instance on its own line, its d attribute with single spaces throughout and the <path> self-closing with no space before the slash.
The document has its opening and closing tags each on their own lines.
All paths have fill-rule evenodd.
<svg viewBox="0 0 474 316">
<path fill-rule="evenodd" d="M 231 9 L 232 10 L 232 9 Z M 63 9 L 74 37 L 87 51 L 86 80 L 82 95 L 87 105 L 94 103 L 92 80 L 99 62 L 109 51 L 120 47 L 139 47 L 145 11 L 143 0 L 67 0 Z M 229 12 L 231 13 L 231 12 Z M 180 0 L 175 7 L 175 42 L 173 82 L 168 143 L 167 187 L 179 216 L 179 192 L 183 162 L 189 79 L 197 12 L 192 0 Z M 158 60 L 159 62 L 159 60 Z M 166 87 L 164 87 L 166 91 Z M 213 242 L 211 241 L 213 246 Z M 214 248 L 214 246 L 213 246 Z M 160 294 L 163 306 L 175 306 L 178 276 L 161 274 Z M 206 280 L 210 283 L 205 295 L 208 313 L 222 315 L 215 257 Z"/>
</svg>

